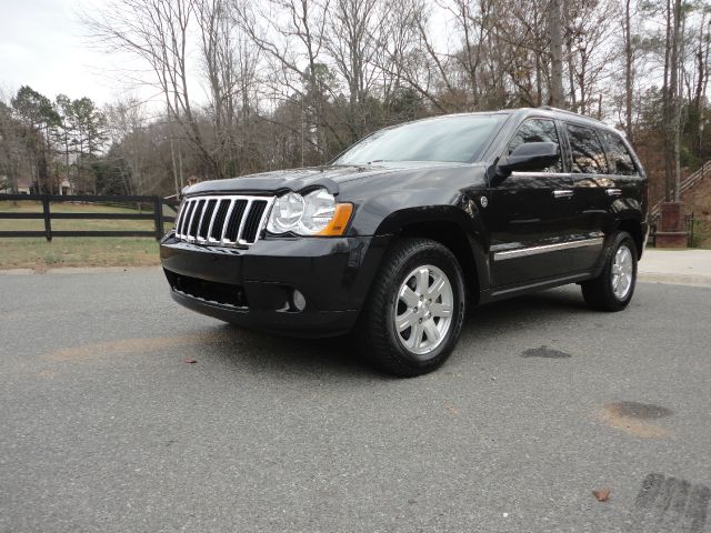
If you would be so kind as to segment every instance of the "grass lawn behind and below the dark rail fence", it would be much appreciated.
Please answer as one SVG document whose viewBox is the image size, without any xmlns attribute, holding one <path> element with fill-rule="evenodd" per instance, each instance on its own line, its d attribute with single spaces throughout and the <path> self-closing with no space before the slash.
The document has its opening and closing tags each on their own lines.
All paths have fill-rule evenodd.
<svg viewBox="0 0 711 533">
<path fill-rule="evenodd" d="M 136 213 L 136 210 L 91 204 L 52 203 L 53 212 Z M 42 212 L 37 202 L 0 202 L 0 212 Z M 148 211 L 150 212 L 150 211 Z M 167 210 L 166 214 L 172 214 Z M 166 224 L 166 229 L 169 224 Z M 0 230 L 42 231 L 42 220 L 0 219 Z M 52 220 L 53 230 L 153 230 L 152 220 Z M 43 238 L 0 239 L 0 269 L 59 266 L 146 266 L 159 264 L 158 242 L 147 238 Z"/>
</svg>

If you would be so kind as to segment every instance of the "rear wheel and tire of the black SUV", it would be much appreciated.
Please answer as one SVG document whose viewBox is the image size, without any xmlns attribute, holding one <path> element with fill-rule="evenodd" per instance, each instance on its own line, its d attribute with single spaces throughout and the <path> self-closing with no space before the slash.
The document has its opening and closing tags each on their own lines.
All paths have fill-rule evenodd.
<svg viewBox="0 0 711 533">
<path fill-rule="evenodd" d="M 612 237 L 602 272 L 581 283 L 585 303 L 597 311 L 621 311 L 628 306 L 637 284 L 637 245 L 629 233 Z"/>
</svg>

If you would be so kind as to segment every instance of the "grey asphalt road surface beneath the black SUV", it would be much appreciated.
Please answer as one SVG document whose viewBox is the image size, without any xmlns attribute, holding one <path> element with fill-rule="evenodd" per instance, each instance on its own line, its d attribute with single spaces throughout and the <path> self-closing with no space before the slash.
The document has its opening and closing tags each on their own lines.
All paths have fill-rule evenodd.
<svg viewBox="0 0 711 533">
<path fill-rule="evenodd" d="M 157 270 L 0 275 L 0 328 L 3 532 L 711 531 L 711 289 L 483 306 L 412 380 Z"/>
</svg>

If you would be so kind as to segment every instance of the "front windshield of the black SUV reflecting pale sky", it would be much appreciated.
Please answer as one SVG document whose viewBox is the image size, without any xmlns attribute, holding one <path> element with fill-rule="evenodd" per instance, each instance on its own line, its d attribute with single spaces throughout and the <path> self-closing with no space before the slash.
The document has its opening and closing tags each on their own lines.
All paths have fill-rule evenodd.
<svg viewBox="0 0 711 533">
<path fill-rule="evenodd" d="M 482 150 L 505 114 L 463 114 L 420 120 L 377 131 L 334 161 L 368 164 L 384 161 L 467 163 Z"/>
</svg>

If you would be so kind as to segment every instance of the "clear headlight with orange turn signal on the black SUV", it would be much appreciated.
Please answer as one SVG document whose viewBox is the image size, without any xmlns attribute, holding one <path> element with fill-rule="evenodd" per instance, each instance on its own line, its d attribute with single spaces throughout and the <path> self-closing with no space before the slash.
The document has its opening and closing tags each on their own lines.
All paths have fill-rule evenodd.
<svg viewBox="0 0 711 533">
<path fill-rule="evenodd" d="M 274 200 L 267 231 L 299 235 L 341 235 L 353 205 L 337 203 L 333 194 L 317 189 L 306 195 L 289 192 Z"/>
</svg>

